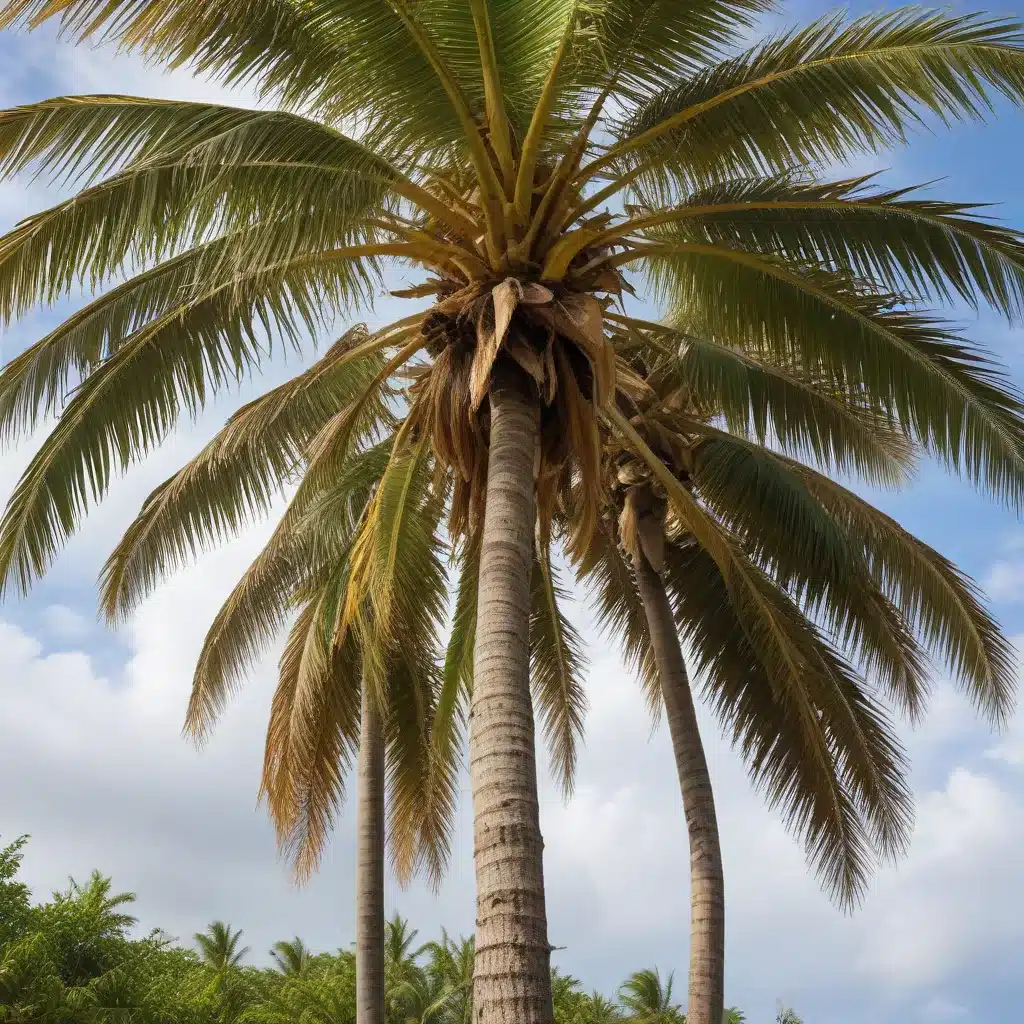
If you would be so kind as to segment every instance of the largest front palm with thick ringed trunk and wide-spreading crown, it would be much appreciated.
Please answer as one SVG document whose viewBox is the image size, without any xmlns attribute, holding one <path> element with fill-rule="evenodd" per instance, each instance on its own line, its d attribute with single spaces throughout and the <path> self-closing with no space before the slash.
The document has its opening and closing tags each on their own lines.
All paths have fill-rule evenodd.
<svg viewBox="0 0 1024 1024">
<path fill-rule="evenodd" d="M 0 7 L 0 26 L 59 15 L 81 35 L 195 61 L 285 108 L 92 96 L 0 117 L 5 173 L 38 162 L 96 182 L 0 242 L 0 317 L 78 281 L 139 271 L 0 381 L 3 436 L 59 413 L 0 525 L 7 585 L 45 571 L 116 467 L 258 366 L 266 332 L 293 344 L 319 333 L 367 296 L 381 261 L 429 271 L 403 292 L 432 296 L 426 314 L 339 356 L 351 370 L 386 354 L 360 396 L 315 439 L 302 423 L 282 425 L 288 443 L 273 471 L 250 465 L 245 487 L 198 486 L 179 531 L 151 539 L 167 559 L 140 563 L 129 583 L 144 590 L 155 565 L 265 511 L 296 450 L 310 471 L 343 464 L 368 403 L 417 353 L 430 356 L 408 392 L 413 423 L 392 476 L 429 437 L 454 477 L 452 536 L 479 543 L 470 768 L 481 1024 L 552 1017 L 527 642 L 535 520 L 545 535 L 571 472 L 587 498 L 577 555 L 596 527 L 597 422 L 613 412 L 618 369 L 610 304 L 626 270 L 695 312 L 711 343 L 780 347 L 897 410 L 929 451 L 993 493 L 1019 503 L 1024 489 L 1017 398 L 944 326 L 890 301 L 958 294 L 1019 311 L 1017 234 L 965 207 L 792 174 L 900 140 L 922 111 L 953 120 L 981 114 L 989 92 L 1020 101 L 1019 30 L 913 8 L 828 18 L 736 51 L 759 9 Z M 340 130 L 354 123 L 358 140 Z M 73 379 L 81 384 L 69 390 Z M 703 530 L 700 509 L 676 497 L 688 526 Z M 379 530 L 380 516 L 365 528 Z M 730 550 L 714 551 L 729 579 Z M 380 569 L 371 559 L 359 573 L 350 612 L 380 597 Z M 716 998 L 690 1006 L 691 1024 L 717 1024 Z"/>
</svg>

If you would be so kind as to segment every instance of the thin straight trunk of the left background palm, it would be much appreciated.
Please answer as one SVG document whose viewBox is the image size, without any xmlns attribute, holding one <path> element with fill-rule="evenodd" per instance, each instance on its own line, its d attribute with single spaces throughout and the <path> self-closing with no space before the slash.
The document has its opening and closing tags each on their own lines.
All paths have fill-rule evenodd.
<svg viewBox="0 0 1024 1024">
<path fill-rule="evenodd" d="M 384 1024 L 384 727 L 362 687 L 355 854 L 355 1021 Z"/>
</svg>

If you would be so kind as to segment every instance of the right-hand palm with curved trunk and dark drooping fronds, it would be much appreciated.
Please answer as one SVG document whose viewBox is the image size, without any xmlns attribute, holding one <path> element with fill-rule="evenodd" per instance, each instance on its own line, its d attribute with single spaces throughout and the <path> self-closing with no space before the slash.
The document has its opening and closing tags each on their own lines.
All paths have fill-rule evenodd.
<svg viewBox="0 0 1024 1024">
<path fill-rule="evenodd" d="M 692 999 L 700 988 L 723 987 L 725 900 L 680 636 L 756 782 L 848 904 L 862 891 L 870 851 L 894 855 L 910 824 L 902 751 L 853 665 L 913 719 L 927 705 L 926 655 L 936 654 L 998 723 L 1012 706 L 1014 659 L 969 580 L 784 454 L 899 482 L 913 450 L 890 411 L 738 346 L 716 355 L 731 386 L 706 389 L 707 346 L 671 327 L 634 325 L 633 344 L 645 390 L 621 395 L 611 414 L 621 420 L 604 454 L 614 519 L 587 572 L 605 625 L 625 641 L 652 707 L 667 713 L 690 840 Z M 767 387 L 773 394 L 759 418 L 722 401 Z M 774 446 L 766 445 L 769 433 Z M 682 502 L 701 509 L 702 530 L 678 516 Z M 731 580 L 714 545 L 733 551 Z M 755 710 L 755 687 L 774 695 L 771 707 Z"/>
</svg>

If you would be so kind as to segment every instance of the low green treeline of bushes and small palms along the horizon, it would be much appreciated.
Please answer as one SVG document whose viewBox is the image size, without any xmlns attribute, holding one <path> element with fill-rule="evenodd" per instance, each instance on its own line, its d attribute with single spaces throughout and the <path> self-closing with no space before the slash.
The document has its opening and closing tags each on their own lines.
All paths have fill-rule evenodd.
<svg viewBox="0 0 1024 1024">
<path fill-rule="evenodd" d="M 313 952 L 301 939 L 269 950 L 271 966 L 247 963 L 243 934 L 214 922 L 191 948 L 161 930 L 131 938 L 133 893 L 94 871 L 48 902 L 33 903 L 18 880 L 26 838 L 0 850 L 0 1021 L 4 1024 L 353 1024 L 355 958 Z M 444 931 L 430 942 L 401 918 L 385 943 L 388 1024 L 470 1024 L 473 940 Z M 672 977 L 630 975 L 608 996 L 552 975 L 557 1024 L 644 1021 L 683 1024 Z M 740 1024 L 737 1009 L 728 1024 Z M 780 1010 L 779 1024 L 800 1024 Z"/>
</svg>

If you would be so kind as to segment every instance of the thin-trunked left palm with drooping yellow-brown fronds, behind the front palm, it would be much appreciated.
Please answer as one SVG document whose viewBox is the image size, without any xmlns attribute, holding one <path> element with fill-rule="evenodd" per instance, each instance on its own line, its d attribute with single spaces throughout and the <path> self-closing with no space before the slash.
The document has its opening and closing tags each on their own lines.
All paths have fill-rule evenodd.
<svg viewBox="0 0 1024 1024">
<path fill-rule="evenodd" d="M 112 614 L 131 607 L 143 586 L 139 581 L 151 579 L 151 560 L 157 550 L 154 541 L 174 536 L 197 481 L 209 480 L 215 471 L 226 485 L 244 487 L 247 460 L 266 457 L 272 461 L 278 447 L 287 445 L 287 436 L 280 434 L 283 422 L 294 423 L 304 416 L 307 427 L 315 428 L 351 396 L 345 368 L 340 375 L 336 371 L 338 352 L 367 338 L 361 327 L 346 332 L 305 374 L 243 409 L 203 452 L 158 488 L 104 567 L 102 600 Z M 270 542 L 218 612 L 197 667 L 186 723 L 194 735 L 204 738 L 226 692 L 285 628 L 289 610 L 302 609 L 282 659 L 267 732 L 263 788 L 279 838 L 304 878 L 318 860 L 332 812 L 343 798 L 348 757 L 358 751 L 356 988 L 360 1024 L 379 1021 L 384 1014 L 382 748 L 387 749 L 390 765 L 395 869 L 404 880 L 417 860 L 423 860 L 436 882 L 447 858 L 459 726 L 470 689 L 472 631 L 466 626 L 466 609 L 475 600 L 477 566 L 471 551 L 460 573 L 456 604 L 462 610 L 457 611 L 449 651 L 440 658 L 432 645 L 444 601 L 445 578 L 438 560 L 444 544 L 435 535 L 447 484 L 441 479 L 435 485 L 435 467 L 426 450 L 415 460 L 391 462 L 400 430 L 384 404 L 373 407 L 367 424 L 368 436 L 382 435 L 380 439 L 361 447 L 341 472 L 303 479 Z M 240 433 L 245 437 L 241 460 Z M 401 472 L 387 475 L 396 467 Z M 232 479 L 232 472 L 241 480 Z M 374 503 L 368 504 L 371 495 Z M 384 514 L 380 514 L 382 506 L 386 506 Z M 391 671 L 383 674 L 383 694 L 380 685 L 364 685 L 367 678 L 373 682 L 364 672 L 361 653 L 365 644 L 379 636 L 373 617 L 356 616 L 354 629 L 338 629 L 349 573 L 361 564 L 352 541 L 375 509 L 381 526 L 375 543 L 387 554 L 387 571 L 394 578 L 388 590 L 399 602 L 393 617 L 403 629 L 400 642 L 391 644 L 385 658 Z M 379 593 L 382 590 L 378 587 Z M 384 602 L 378 598 L 377 605 L 380 610 Z M 531 624 L 534 654 L 540 666 L 535 685 L 552 761 L 570 774 L 582 727 L 579 637 L 561 614 L 557 595 L 543 590 L 538 591 Z M 444 662 L 445 669 L 435 699 L 440 681 L 435 680 L 433 667 L 438 660 Z M 557 671 L 549 671 L 552 666 Z M 379 667 L 375 675 L 380 676 Z M 361 709 L 355 718 L 360 692 Z M 308 709 L 301 719 L 294 711 L 298 693 L 301 706 Z M 384 712 L 376 711 L 381 699 Z M 417 713 L 410 715 L 411 710 Z M 435 710 L 439 714 L 434 715 Z M 297 727 L 297 722 L 307 724 Z M 424 750 L 422 728 L 428 723 L 432 725 L 430 743 Z M 568 781 L 568 776 L 563 777 L 564 784 Z"/>
</svg>

